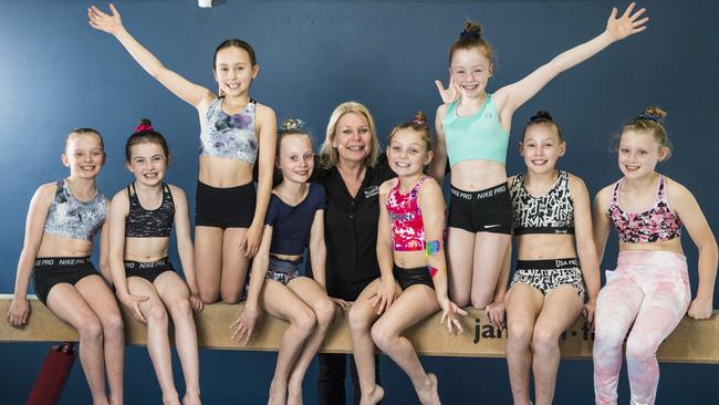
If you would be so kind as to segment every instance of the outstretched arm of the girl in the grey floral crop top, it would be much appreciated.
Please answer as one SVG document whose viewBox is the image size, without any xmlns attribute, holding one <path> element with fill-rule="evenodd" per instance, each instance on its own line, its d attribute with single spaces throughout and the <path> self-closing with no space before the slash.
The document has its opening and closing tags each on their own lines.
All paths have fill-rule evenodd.
<svg viewBox="0 0 719 405">
<path fill-rule="evenodd" d="M 202 102 L 209 103 L 215 98 L 215 94 L 209 90 L 189 82 L 179 74 L 168 70 L 163 63 L 155 58 L 145 46 L 135 40 L 125 27 L 119 17 L 119 12 L 113 3 L 110 4 L 110 14 L 104 13 L 95 6 L 87 9 L 90 25 L 96 30 L 107 32 L 125 46 L 131 56 L 147 72 L 150 76 L 160 82 L 167 90 L 173 92 L 186 103 L 200 108 Z"/>
</svg>

